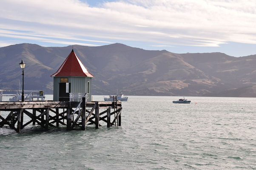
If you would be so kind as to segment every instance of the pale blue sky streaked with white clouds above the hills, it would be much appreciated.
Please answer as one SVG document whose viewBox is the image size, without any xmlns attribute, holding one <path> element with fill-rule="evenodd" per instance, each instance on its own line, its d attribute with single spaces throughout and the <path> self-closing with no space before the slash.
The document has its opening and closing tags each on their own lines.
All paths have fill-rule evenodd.
<svg viewBox="0 0 256 170">
<path fill-rule="evenodd" d="M 0 47 L 122 43 L 173 53 L 256 54 L 255 0 L 1 0 Z"/>
</svg>

